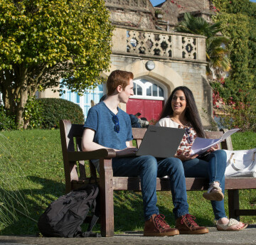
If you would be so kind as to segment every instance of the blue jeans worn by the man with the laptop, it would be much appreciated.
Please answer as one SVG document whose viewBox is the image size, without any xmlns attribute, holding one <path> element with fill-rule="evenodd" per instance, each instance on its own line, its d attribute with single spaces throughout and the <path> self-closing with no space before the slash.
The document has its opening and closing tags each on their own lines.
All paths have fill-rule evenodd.
<svg viewBox="0 0 256 245">
<path fill-rule="evenodd" d="M 188 214 L 186 180 L 182 162 L 178 158 L 156 159 L 153 156 L 113 158 L 112 168 L 114 176 L 141 178 L 145 221 L 150 219 L 152 214 L 159 214 L 159 209 L 156 207 L 156 177 L 166 175 L 169 175 L 175 218 Z"/>
</svg>

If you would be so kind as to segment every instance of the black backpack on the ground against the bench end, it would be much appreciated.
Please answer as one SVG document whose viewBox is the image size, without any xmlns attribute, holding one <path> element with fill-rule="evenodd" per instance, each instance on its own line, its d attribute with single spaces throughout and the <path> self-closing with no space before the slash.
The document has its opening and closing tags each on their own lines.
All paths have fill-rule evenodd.
<svg viewBox="0 0 256 245">
<path fill-rule="evenodd" d="M 59 197 L 39 217 L 39 231 L 43 236 L 97 236 L 92 233 L 92 227 L 100 217 L 100 195 L 98 194 L 99 187 L 96 184 L 88 184 Z M 82 232 L 80 226 L 89 211 L 93 216 L 87 232 Z"/>
</svg>

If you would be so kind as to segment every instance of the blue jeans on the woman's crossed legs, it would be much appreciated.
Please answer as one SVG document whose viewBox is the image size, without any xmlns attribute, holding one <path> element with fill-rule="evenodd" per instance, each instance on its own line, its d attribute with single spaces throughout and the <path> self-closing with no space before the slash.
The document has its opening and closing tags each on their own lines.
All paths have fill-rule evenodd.
<svg viewBox="0 0 256 245">
<path fill-rule="evenodd" d="M 227 164 L 227 154 L 223 150 L 213 151 L 203 158 L 195 158 L 193 160 L 183 161 L 183 167 L 186 177 L 208 178 L 209 183 L 218 181 L 222 188 L 223 194 L 225 190 L 225 168 Z M 215 219 L 226 217 L 224 200 L 210 201 L 213 207 Z"/>
</svg>

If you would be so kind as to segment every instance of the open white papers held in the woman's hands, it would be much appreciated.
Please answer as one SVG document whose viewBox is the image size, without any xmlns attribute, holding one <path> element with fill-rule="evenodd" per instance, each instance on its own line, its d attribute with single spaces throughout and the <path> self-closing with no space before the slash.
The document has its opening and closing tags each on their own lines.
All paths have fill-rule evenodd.
<svg viewBox="0 0 256 245">
<path fill-rule="evenodd" d="M 225 138 L 228 138 L 231 134 L 234 134 L 236 131 L 240 129 L 231 129 L 228 132 L 225 132 L 221 138 L 200 138 L 196 137 L 193 145 L 191 147 L 191 156 L 200 155 L 205 153 L 208 149 L 215 146 L 217 143 L 224 141 Z"/>
</svg>

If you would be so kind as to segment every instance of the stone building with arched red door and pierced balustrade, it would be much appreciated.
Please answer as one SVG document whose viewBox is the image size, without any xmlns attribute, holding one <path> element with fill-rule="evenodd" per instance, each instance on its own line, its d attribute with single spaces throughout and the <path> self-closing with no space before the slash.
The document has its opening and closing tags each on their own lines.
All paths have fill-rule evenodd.
<svg viewBox="0 0 256 245">
<path fill-rule="evenodd" d="M 185 12 L 208 18 L 213 14 L 210 1 L 166 0 L 156 7 L 149 0 L 105 0 L 105 4 L 115 26 L 110 72 L 119 69 L 134 74 L 134 96 L 121 105 L 122 109 L 156 121 L 171 91 L 184 85 L 192 90 L 203 125 L 208 128 L 213 107 L 206 79 L 206 38 L 176 33 L 174 26 Z M 86 117 L 90 101 L 99 102 L 105 93 L 105 85 L 100 85 L 84 97 L 67 91 L 63 98 L 80 104 Z M 49 89 L 39 96 L 58 94 Z"/>
</svg>

